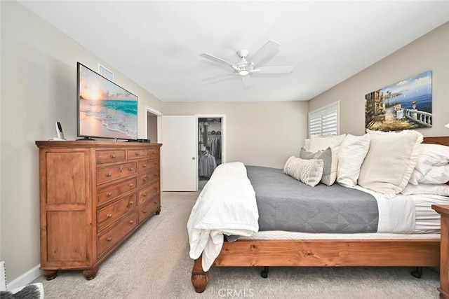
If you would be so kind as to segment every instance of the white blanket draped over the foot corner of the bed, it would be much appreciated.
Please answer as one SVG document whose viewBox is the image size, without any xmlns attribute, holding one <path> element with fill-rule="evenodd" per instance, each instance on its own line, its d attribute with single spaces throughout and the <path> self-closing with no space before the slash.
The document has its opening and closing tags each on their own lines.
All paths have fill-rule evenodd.
<svg viewBox="0 0 449 299">
<path fill-rule="evenodd" d="M 250 236 L 259 230 L 255 192 L 241 162 L 218 166 L 201 191 L 187 222 L 190 258 L 202 257 L 208 271 L 223 246 L 223 235 Z"/>
</svg>

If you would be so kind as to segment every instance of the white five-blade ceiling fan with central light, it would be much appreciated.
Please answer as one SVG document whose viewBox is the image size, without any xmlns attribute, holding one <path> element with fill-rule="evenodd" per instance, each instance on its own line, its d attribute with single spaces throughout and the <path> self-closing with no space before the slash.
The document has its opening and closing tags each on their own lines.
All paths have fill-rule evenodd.
<svg viewBox="0 0 449 299">
<path fill-rule="evenodd" d="M 223 60 L 222 58 L 216 57 L 214 55 L 210 55 L 208 53 L 200 54 L 200 56 L 208 60 L 212 60 L 213 62 L 231 67 L 233 69 L 233 72 L 227 75 L 241 76 L 243 86 L 249 87 L 251 84 L 250 74 L 287 74 L 293 71 L 292 66 L 258 67 L 261 62 L 269 57 L 269 55 L 274 54 L 279 46 L 280 44 L 276 41 L 269 40 L 264 44 L 264 46 L 257 50 L 257 52 L 252 57 L 248 59 L 248 50 L 239 50 L 237 51 L 237 55 L 239 55 L 240 57 L 240 62 L 237 62 L 236 64 L 227 60 Z"/>
</svg>

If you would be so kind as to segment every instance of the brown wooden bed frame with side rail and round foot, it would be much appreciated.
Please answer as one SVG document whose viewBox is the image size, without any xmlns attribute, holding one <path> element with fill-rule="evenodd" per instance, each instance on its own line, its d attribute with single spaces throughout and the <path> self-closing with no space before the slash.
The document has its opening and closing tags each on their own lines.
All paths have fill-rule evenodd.
<svg viewBox="0 0 449 299">
<path fill-rule="evenodd" d="M 425 137 L 424 143 L 449 146 L 449 137 Z M 192 284 L 203 293 L 209 273 L 201 256 L 194 260 Z M 440 265 L 439 240 L 323 239 L 237 240 L 224 242 L 215 267 L 242 266 L 413 266 Z"/>
</svg>

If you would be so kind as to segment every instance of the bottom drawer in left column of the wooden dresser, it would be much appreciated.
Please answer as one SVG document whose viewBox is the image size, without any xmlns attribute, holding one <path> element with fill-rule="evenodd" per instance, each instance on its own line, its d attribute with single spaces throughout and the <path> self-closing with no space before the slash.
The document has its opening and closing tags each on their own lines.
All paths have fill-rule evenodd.
<svg viewBox="0 0 449 299">
<path fill-rule="evenodd" d="M 133 211 L 125 218 L 121 219 L 113 228 L 107 230 L 103 235 L 98 236 L 97 242 L 97 256 L 103 255 L 117 244 L 123 237 L 128 235 L 128 233 L 133 230 L 138 225 L 138 212 Z"/>
</svg>

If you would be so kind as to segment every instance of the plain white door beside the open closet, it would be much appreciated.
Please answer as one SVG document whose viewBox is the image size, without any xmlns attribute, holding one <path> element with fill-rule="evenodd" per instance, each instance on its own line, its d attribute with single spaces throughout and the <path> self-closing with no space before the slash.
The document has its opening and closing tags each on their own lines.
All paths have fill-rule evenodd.
<svg viewBox="0 0 449 299">
<path fill-rule="evenodd" d="M 196 118 L 161 117 L 161 186 L 163 191 L 198 190 Z"/>
</svg>

